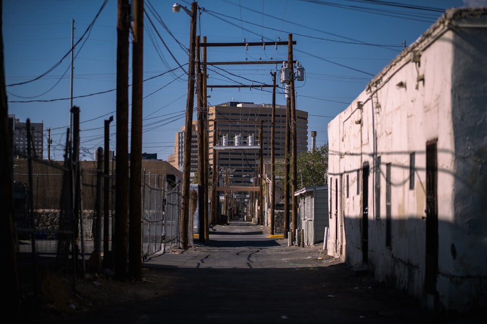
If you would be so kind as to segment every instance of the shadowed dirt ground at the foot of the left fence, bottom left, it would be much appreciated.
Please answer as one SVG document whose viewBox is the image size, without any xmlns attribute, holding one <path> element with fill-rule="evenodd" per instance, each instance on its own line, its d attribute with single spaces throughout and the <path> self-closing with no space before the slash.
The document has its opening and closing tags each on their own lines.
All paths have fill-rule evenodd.
<svg viewBox="0 0 487 324">
<path fill-rule="evenodd" d="M 168 285 L 168 277 L 143 267 L 142 280 L 115 280 L 111 271 L 87 273 L 73 280 L 45 273 L 35 294 L 29 284 L 20 291 L 20 323 L 66 323 L 117 305 L 150 300 Z M 121 306 L 123 307 L 123 306 Z"/>
</svg>

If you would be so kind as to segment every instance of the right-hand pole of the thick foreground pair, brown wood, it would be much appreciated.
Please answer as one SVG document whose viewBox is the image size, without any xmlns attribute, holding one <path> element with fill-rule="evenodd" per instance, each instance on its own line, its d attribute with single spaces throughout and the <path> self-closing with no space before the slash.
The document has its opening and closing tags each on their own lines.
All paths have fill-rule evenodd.
<svg viewBox="0 0 487 324">
<path fill-rule="evenodd" d="M 142 279 L 142 79 L 144 46 L 144 0 L 132 0 L 132 128 L 130 154 L 129 273 Z"/>
</svg>

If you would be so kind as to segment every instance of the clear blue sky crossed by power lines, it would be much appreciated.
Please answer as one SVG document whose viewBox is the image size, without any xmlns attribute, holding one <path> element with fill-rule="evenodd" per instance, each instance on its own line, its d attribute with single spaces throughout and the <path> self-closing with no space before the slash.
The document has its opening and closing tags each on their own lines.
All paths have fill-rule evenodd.
<svg viewBox="0 0 487 324">
<path fill-rule="evenodd" d="M 164 160 L 173 153 L 175 134 L 185 123 L 187 96 L 184 70 L 190 17 L 183 11 L 173 13 L 173 3 L 145 1 L 144 80 L 148 80 L 143 89 L 142 152 L 157 153 Z M 179 3 L 191 7 L 190 1 Z M 409 46 L 426 31 L 441 16 L 440 11 L 487 6 L 487 1 L 200 0 L 198 6 L 197 34 L 206 36 L 208 43 L 287 41 L 288 35 L 293 35 L 294 59 L 305 68 L 305 81 L 295 83 L 296 107 L 308 112 L 308 131 L 317 132 L 319 146 L 328 141 L 328 122 L 356 98 L 403 44 Z M 62 159 L 70 122 L 74 19 L 73 104 L 80 107 L 81 158 L 93 159 L 96 148 L 103 146 L 104 120 L 110 116 L 114 118 L 110 146 L 115 150 L 117 1 L 4 0 L 2 19 L 9 113 L 21 121 L 43 122 L 44 142 L 50 128 L 51 158 Z M 207 51 L 208 62 L 258 60 L 287 61 L 287 47 L 217 47 Z M 219 66 L 208 70 L 207 84 L 272 84 L 270 72 L 280 68 Z M 19 83 L 24 84 L 15 85 Z M 277 104 L 285 104 L 282 86 L 277 90 Z M 129 102 L 130 94 L 131 87 Z M 208 89 L 208 94 L 210 105 L 232 100 L 272 103 L 270 88 L 214 88 Z M 47 158 L 47 145 L 44 147 Z"/>
</svg>

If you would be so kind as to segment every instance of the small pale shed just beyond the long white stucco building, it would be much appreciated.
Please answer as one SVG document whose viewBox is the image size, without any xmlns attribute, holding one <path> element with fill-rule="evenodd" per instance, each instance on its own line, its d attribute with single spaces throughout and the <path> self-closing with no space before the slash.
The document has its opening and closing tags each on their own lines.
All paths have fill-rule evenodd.
<svg viewBox="0 0 487 324">
<path fill-rule="evenodd" d="M 305 245 L 323 242 L 328 227 L 328 185 L 305 187 L 294 193 L 300 206 L 300 222 Z"/>
</svg>

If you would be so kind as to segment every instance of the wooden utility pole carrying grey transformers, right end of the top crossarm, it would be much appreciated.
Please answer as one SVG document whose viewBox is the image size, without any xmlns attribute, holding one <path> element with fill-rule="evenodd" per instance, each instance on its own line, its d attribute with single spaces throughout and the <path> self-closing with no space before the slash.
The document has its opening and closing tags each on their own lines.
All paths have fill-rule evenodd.
<svg viewBox="0 0 487 324">
<path fill-rule="evenodd" d="M 294 241 L 296 235 L 297 222 L 298 222 L 298 205 L 294 193 L 298 190 L 297 177 L 298 177 L 298 142 L 297 142 L 297 120 L 296 120 L 296 101 L 294 96 L 294 68 L 293 68 L 293 34 L 288 35 L 288 58 L 287 65 L 289 67 L 289 73 L 291 77 L 289 78 L 289 98 L 291 103 L 291 199 L 292 199 L 292 213 L 291 218 L 293 226 L 291 229 L 292 240 Z"/>
</svg>

